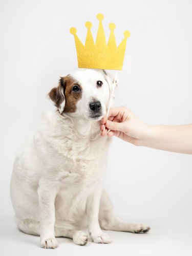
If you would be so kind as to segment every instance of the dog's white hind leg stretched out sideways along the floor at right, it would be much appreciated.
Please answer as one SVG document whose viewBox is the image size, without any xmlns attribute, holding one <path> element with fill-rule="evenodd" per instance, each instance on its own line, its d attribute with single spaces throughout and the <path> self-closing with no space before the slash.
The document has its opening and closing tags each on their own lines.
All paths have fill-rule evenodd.
<svg viewBox="0 0 192 256">
<path fill-rule="evenodd" d="M 150 230 L 150 227 L 145 225 L 131 224 L 119 220 L 114 214 L 112 202 L 105 190 L 103 190 L 100 201 L 99 223 L 100 227 L 105 230 L 133 233 L 146 233 Z"/>
</svg>

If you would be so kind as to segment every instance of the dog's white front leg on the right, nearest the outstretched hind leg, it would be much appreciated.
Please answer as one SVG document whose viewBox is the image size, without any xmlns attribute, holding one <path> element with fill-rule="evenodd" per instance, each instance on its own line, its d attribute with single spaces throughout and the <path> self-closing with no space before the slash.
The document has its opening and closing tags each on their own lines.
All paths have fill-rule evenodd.
<svg viewBox="0 0 192 256">
<path fill-rule="evenodd" d="M 99 206 L 102 193 L 102 187 L 100 184 L 96 184 L 95 188 L 87 200 L 87 216 L 88 216 L 88 230 L 91 239 L 94 243 L 109 244 L 111 238 L 102 232 L 99 225 Z"/>
</svg>

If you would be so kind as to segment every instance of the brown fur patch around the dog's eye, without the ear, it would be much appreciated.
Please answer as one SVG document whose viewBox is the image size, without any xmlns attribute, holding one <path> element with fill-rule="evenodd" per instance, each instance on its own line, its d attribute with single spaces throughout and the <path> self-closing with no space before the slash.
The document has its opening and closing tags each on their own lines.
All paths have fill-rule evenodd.
<svg viewBox="0 0 192 256">
<path fill-rule="evenodd" d="M 65 80 L 65 97 L 66 97 L 66 105 L 64 112 L 66 113 L 73 113 L 77 109 L 77 102 L 81 99 L 82 97 L 82 88 L 80 84 L 78 83 L 77 80 L 75 80 L 73 77 L 70 75 L 67 75 L 65 77 L 62 77 L 61 79 Z M 73 92 L 73 87 L 78 86 L 79 91 L 78 92 Z"/>
</svg>

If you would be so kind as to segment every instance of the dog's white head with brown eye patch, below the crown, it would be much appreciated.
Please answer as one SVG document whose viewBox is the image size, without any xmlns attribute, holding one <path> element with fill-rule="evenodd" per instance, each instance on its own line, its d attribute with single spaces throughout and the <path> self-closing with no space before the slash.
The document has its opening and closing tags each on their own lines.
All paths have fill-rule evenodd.
<svg viewBox="0 0 192 256">
<path fill-rule="evenodd" d="M 104 70 L 77 70 L 61 77 L 49 97 L 60 114 L 76 113 L 100 120 L 106 114 L 113 78 Z"/>
</svg>

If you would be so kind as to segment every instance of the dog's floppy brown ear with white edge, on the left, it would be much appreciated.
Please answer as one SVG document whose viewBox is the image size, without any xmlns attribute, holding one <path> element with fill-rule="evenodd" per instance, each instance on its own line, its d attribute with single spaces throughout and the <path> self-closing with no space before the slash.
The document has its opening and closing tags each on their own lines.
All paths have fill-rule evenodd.
<svg viewBox="0 0 192 256">
<path fill-rule="evenodd" d="M 49 93 L 49 98 L 58 108 L 60 114 L 62 114 L 66 104 L 65 86 L 65 77 L 60 77 L 58 86 L 53 88 Z"/>
</svg>

